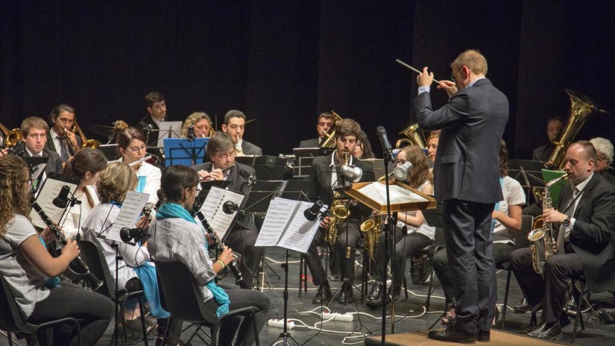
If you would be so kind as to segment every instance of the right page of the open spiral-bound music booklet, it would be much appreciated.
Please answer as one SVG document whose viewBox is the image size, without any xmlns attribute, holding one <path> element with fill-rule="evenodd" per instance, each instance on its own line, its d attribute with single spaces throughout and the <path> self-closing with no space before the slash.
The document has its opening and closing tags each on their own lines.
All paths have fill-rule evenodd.
<svg viewBox="0 0 615 346">
<path fill-rule="evenodd" d="M 303 215 L 303 212 L 312 207 L 312 204 L 314 203 L 299 202 L 299 209 L 295 214 L 295 218 L 290 221 L 288 229 L 280 237 L 277 246 L 304 253 L 308 252 L 308 248 L 320 225 L 320 216 L 314 221 L 310 221 Z"/>
</svg>

